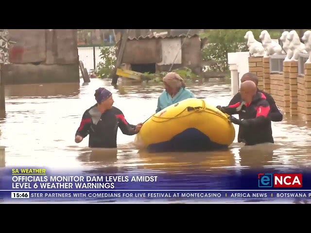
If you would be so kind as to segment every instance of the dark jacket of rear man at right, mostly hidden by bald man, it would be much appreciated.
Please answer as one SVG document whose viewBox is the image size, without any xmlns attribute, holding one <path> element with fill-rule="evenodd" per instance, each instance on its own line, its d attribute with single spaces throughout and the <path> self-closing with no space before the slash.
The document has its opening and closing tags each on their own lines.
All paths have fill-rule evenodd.
<svg viewBox="0 0 311 233">
<path fill-rule="evenodd" d="M 266 100 L 268 101 L 268 103 L 270 105 L 269 117 L 270 117 L 271 121 L 274 121 L 274 122 L 282 121 L 283 120 L 282 112 L 277 107 L 276 101 L 273 99 L 273 97 L 269 93 L 266 93 L 266 92 L 264 92 L 262 90 L 258 89 L 258 92 L 261 92 L 261 93 L 264 94 L 264 96 L 266 97 Z M 237 102 L 241 102 L 241 101 L 242 101 L 241 93 L 238 92 L 232 98 L 232 100 L 230 100 L 229 105 L 233 105 L 233 104 L 236 104 Z M 244 113 L 243 112 L 239 113 L 239 119 L 244 119 Z M 243 141 L 244 141 L 243 129 L 241 127 L 239 127 L 238 142 L 243 142 Z"/>
</svg>

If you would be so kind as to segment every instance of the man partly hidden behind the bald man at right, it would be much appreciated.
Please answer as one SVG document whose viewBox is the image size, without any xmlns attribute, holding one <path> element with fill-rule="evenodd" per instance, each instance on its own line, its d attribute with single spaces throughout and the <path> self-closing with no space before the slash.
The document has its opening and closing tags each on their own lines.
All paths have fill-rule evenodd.
<svg viewBox="0 0 311 233">
<path fill-rule="evenodd" d="M 241 83 L 243 83 L 245 81 L 253 81 L 256 84 L 256 86 L 258 86 L 258 77 L 254 73 L 251 73 L 251 72 L 245 73 L 241 78 Z M 270 94 L 268 94 L 262 90 L 259 90 L 258 88 L 257 88 L 257 91 L 261 92 L 265 95 L 266 100 L 268 101 L 268 103 L 270 105 L 271 109 L 270 109 L 269 117 L 271 118 L 271 121 L 274 121 L 274 122 L 282 121 L 283 115 L 282 115 L 281 111 L 279 110 L 279 108 L 276 106 L 276 102 L 273 99 L 273 97 Z M 242 100 L 242 97 L 241 97 L 241 93 L 239 92 L 232 98 L 232 100 L 230 100 L 229 105 L 236 104 L 237 102 L 240 102 L 241 100 Z M 244 119 L 244 118 L 245 118 L 244 113 L 240 113 L 239 119 Z M 241 127 L 239 128 L 238 142 L 244 142 L 244 133 L 243 133 L 243 130 L 241 129 Z"/>
</svg>

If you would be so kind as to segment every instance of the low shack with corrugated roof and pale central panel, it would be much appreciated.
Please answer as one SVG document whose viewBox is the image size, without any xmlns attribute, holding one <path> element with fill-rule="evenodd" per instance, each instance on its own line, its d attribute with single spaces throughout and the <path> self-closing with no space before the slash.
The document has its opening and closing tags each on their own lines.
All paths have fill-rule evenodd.
<svg viewBox="0 0 311 233">
<path fill-rule="evenodd" d="M 202 43 L 204 41 L 196 34 L 188 35 L 187 39 L 185 34 L 129 36 L 121 63 L 124 67 L 140 73 L 156 73 L 188 67 L 193 73 L 200 75 Z"/>
</svg>

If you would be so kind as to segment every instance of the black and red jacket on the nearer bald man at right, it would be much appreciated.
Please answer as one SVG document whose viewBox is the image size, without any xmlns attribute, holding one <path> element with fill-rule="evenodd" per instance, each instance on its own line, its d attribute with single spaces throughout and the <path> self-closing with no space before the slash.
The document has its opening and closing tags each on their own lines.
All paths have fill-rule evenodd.
<svg viewBox="0 0 311 233">
<path fill-rule="evenodd" d="M 271 128 L 270 105 L 266 96 L 257 92 L 250 104 L 242 104 L 242 101 L 224 108 L 228 115 L 242 115 L 243 121 L 247 121 L 248 126 L 240 125 L 245 145 L 255 145 L 260 143 L 274 143 Z M 238 109 L 237 109 L 238 108 Z M 241 109 L 240 109 L 241 108 Z"/>
</svg>

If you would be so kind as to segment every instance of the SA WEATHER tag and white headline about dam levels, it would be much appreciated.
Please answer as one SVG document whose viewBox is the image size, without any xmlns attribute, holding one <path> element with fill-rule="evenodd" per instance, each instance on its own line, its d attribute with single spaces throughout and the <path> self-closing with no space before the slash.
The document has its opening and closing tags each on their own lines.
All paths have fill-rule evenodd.
<svg viewBox="0 0 311 233">
<path fill-rule="evenodd" d="M 12 169 L 13 189 L 114 189 L 115 183 L 157 182 L 157 176 L 52 176 L 46 169 Z"/>
</svg>

